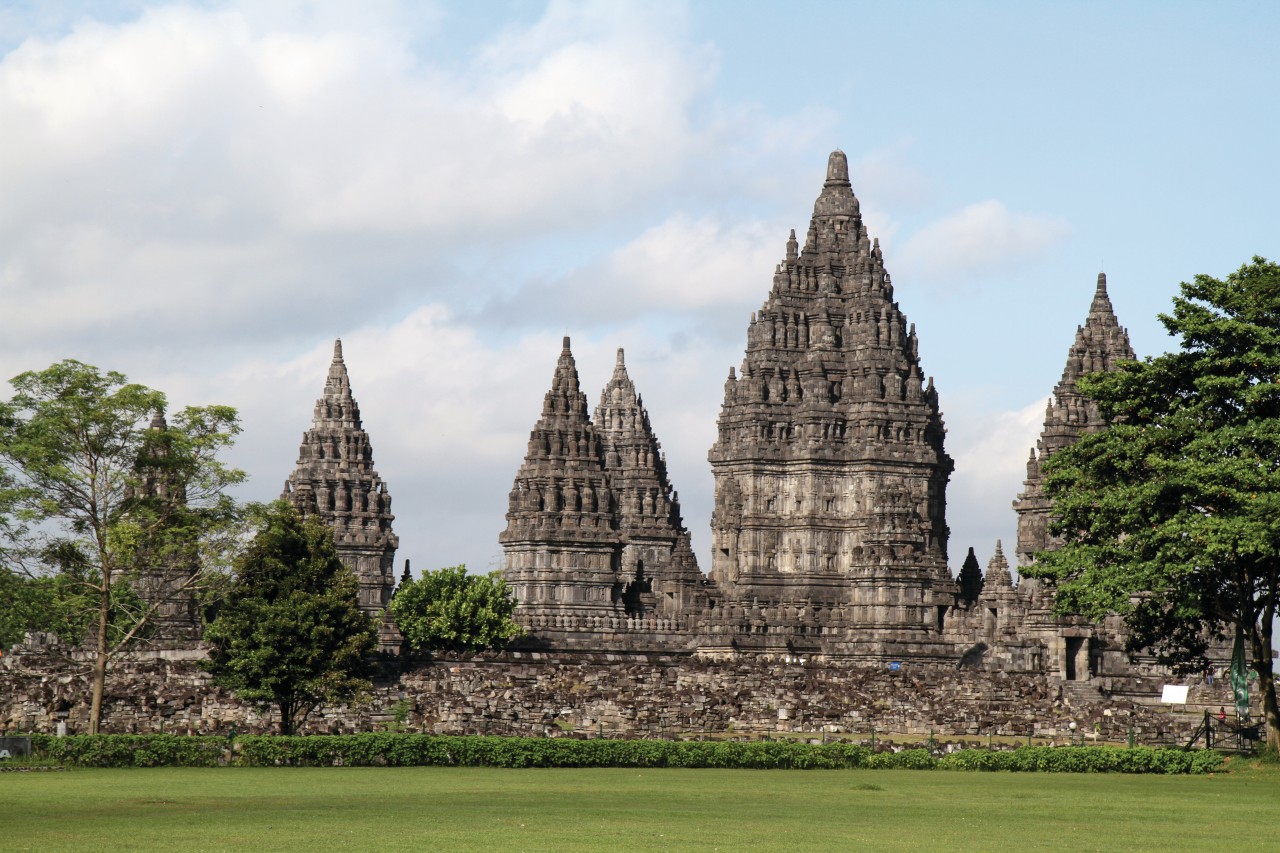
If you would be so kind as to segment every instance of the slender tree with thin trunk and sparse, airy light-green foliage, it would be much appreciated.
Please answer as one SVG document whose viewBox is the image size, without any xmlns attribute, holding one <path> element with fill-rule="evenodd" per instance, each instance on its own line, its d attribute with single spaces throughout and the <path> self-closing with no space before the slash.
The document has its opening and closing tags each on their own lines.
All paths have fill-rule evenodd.
<svg viewBox="0 0 1280 853">
<path fill-rule="evenodd" d="M 120 581 L 145 571 L 165 576 L 170 592 L 200 587 L 216 562 L 211 546 L 234 529 L 237 507 L 225 489 L 244 474 L 218 453 L 239 425 L 234 409 L 207 406 L 183 410 L 170 426 L 163 393 L 74 360 L 12 384 L 13 397 L 0 403 L 5 560 L 27 578 L 58 575 L 68 594 L 55 610 L 76 610 L 77 597 L 91 602 L 96 733 L 110 661 L 163 603 Z M 172 487 L 165 500 L 154 488 L 155 466 L 143 464 L 156 443 L 165 447 L 163 476 Z"/>
</svg>

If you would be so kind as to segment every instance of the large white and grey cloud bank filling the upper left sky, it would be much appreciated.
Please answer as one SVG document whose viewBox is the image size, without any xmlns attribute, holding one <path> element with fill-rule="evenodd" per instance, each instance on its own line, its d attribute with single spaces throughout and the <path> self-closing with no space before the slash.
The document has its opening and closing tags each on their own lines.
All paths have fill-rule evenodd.
<svg viewBox="0 0 1280 853">
<path fill-rule="evenodd" d="M 663 8 L 553 4 L 461 68 L 367 9 L 255 9 L 83 20 L 0 60 L 19 338 L 340 328 L 652 204 L 724 141 L 694 109 L 714 56 Z"/>
</svg>

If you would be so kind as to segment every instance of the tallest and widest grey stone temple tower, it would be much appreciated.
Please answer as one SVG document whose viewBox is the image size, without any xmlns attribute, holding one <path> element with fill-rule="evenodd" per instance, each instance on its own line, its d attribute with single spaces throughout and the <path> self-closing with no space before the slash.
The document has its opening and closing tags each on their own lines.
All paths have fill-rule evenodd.
<svg viewBox="0 0 1280 853">
<path fill-rule="evenodd" d="M 804 245 L 792 232 L 751 316 L 709 453 L 712 579 L 750 616 L 742 630 L 771 612 L 763 630 L 792 630 L 799 605 L 806 633 L 842 634 L 823 638 L 836 653 L 941 654 L 957 592 L 943 434 L 915 327 L 836 151 Z"/>
</svg>

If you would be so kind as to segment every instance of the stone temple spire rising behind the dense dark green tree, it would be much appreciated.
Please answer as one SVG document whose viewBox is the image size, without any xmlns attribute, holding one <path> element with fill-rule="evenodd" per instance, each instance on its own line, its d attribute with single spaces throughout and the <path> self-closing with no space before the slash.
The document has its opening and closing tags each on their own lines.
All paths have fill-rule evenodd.
<svg viewBox="0 0 1280 853">
<path fill-rule="evenodd" d="M 324 392 L 282 497 L 333 528 L 338 556 L 360 579 L 361 608 L 376 613 L 387 607 L 396 587 L 396 516 L 387 484 L 374 470 L 374 451 L 351 393 L 340 339 L 334 341 Z"/>
</svg>

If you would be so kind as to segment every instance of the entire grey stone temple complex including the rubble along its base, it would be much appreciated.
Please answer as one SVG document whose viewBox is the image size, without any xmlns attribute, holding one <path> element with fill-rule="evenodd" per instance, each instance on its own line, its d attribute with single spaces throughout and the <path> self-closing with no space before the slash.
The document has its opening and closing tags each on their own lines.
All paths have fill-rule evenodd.
<svg viewBox="0 0 1280 853">
<path fill-rule="evenodd" d="M 1012 503 L 1019 566 L 1059 544 L 1042 464 L 1105 425 L 1078 380 L 1132 359 L 1100 274 Z M 168 473 L 163 414 L 151 426 L 141 485 L 129 497 L 159 511 L 180 507 L 186 494 Z M 946 488 L 954 464 L 938 392 L 840 151 L 828 159 L 803 243 L 792 231 L 746 323 L 744 359 L 728 370 L 717 426 L 704 575 L 622 350 L 593 412 L 566 337 L 499 534 L 525 635 L 503 660 L 442 667 L 399 658 L 390 667 L 398 676 L 381 688 L 384 707 L 402 708 L 412 695 L 424 730 L 468 733 L 477 724 L 485 733 L 490 724 L 511 734 L 608 725 L 649 735 L 671 726 L 818 725 L 823 733 L 896 725 L 932 734 L 945 725 L 1021 736 L 1070 725 L 1074 739 L 1079 717 L 1112 739 L 1135 722 L 1164 736 L 1170 715 L 1142 706 L 1158 704 L 1166 672 L 1129 656 L 1120 617 L 1056 616 L 1052 587 L 1018 580 L 998 540 L 986 571 L 968 548 L 952 575 Z M 361 607 L 383 615 L 380 649 L 413 652 L 387 611 L 394 516 L 340 341 L 283 497 L 333 528 L 360 580 Z M 138 592 L 157 606 L 156 639 L 195 660 L 201 622 L 170 556 L 156 555 Z M 54 660 L 42 649 L 56 638 L 28 646 L 23 654 Z M 1215 654 L 1215 662 L 1222 657 Z M 24 725 L 65 716 L 58 708 L 69 699 L 47 697 L 70 676 L 36 683 L 28 669 L 6 669 L 9 660 L 0 661 L 0 686 L 28 680 L 22 695 L 9 688 L 17 698 L 0 690 L 0 715 Z M 140 666 L 151 680 L 140 675 L 137 684 L 159 695 L 164 672 Z M 205 686 L 189 695 L 207 690 L 200 678 L 191 684 Z M 1225 686 L 1212 688 L 1212 678 L 1202 679 L 1199 713 L 1224 702 Z M 168 712 L 157 708 L 187 707 L 189 695 L 151 710 L 131 706 L 113 725 L 164 726 Z M 257 725 L 243 708 L 210 702 L 192 712 L 198 725 L 218 713 Z M 329 725 L 372 725 L 353 719 Z"/>
</svg>

